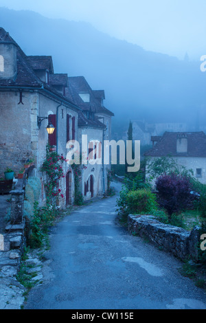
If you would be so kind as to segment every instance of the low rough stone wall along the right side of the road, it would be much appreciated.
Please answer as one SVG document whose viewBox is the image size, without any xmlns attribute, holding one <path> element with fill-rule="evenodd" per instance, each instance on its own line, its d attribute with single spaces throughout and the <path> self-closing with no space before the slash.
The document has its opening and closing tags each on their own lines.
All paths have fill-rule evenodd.
<svg viewBox="0 0 206 323">
<path fill-rule="evenodd" d="M 128 232 L 148 238 L 152 243 L 170 252 L 177 258 L 185 260 L 190 256 L 198 260 L 198 245 L 200 245 L 200 227 L 191 232 L 181 227 L 167 225 L 151 215 L 128 215 Z"/>
</svg>

